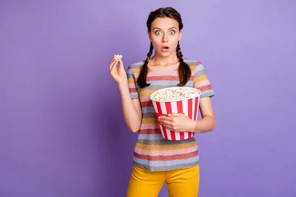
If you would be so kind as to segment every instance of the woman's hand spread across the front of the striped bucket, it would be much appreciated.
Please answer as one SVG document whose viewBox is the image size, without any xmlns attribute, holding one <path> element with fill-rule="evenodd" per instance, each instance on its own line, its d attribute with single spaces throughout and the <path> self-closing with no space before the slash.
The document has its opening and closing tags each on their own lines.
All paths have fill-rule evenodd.
<svg viewBox="0 0 296 197">
<path fill-rule="evenodd" d="M 195 122 L 181 113 L 171 113 L 169 117 L 159 116 L 158 121 L 165 128 L 175 132 L 192 131 Z"/>
</svg>

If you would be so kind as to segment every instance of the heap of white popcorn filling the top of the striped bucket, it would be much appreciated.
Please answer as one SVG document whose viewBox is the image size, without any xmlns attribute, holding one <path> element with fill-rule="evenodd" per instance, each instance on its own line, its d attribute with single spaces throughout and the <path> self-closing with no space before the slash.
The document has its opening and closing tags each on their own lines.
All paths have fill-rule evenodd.
<svg viewBox="0 0 296 197">
<path fill-rule="evenodd" d="M 153 95 L 153 99 L 157 101 L 172 101 L 181 99 L 191 99 L 198 96 L 200 92 L 193 91 L 192 89 L 181 87 L 178 89 L 165 89 L 158 90 Z"/>
</svg>

